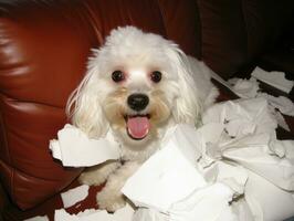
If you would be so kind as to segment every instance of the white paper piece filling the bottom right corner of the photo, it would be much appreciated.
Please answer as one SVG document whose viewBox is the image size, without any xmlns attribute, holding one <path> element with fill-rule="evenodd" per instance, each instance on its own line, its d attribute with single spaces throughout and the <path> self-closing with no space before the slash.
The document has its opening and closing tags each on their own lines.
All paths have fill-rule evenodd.
<svg viewBox="0 0 294 221">
<path fill-rule="evenodd" d="M 254 221 L 285 220 L 294 215 L 294 194 L 248 170 L 245 200 Z"/>
</svg>

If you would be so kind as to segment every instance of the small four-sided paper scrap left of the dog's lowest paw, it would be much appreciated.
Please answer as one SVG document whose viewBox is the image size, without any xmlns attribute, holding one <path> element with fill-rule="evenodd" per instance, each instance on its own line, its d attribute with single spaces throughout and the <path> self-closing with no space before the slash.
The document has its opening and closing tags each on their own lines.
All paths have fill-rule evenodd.
<svg viewBox="0 0 294 221">
<path fill-rule="evenodd" d="M 80 187 L 70 189 L 61 193 L 64 208 L 74 206 L 76 202 L 84 200 L 88 196 L 88 186 L 82 185 Z"/>
</svg>

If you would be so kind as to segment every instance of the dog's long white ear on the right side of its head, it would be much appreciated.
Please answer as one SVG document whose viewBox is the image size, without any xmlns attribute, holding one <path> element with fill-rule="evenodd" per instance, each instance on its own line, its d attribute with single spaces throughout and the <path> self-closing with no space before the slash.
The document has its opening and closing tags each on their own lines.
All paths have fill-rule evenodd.
<svg viewBox="0 0 294 221">
<path fill-rule="evenodd" d="M 176 44 L 170 44 L 168 55 L 178 74 L 179 93 L 172 116 L 178 124 L 198 124 L 202 112 L 198 88 L 187 55 Z"/>
</svg>

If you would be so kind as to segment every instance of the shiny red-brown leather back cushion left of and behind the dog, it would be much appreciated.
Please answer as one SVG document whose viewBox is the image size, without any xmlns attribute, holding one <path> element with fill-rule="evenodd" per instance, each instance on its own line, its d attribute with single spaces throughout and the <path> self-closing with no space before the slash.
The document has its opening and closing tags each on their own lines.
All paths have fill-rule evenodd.
<svg viewBox="0 0 294 221">
<path fill-rule="evenodd" d="M 187 9 L 191 1 L 174 2 Z M 67 122 L 66 99 L 85 73 L 91 48 L 99 46 L 113 28 L 137 25 L 197 54 L 193 35 L 176 35 L 181 22 L 182 32 L 196 33 L 189 27 L 193 10 L 192 18 L 169 23 L 176 9 L 157 0 L 0 3 L 0 178 L 21 209 L 35 207 L 80 175 L 81 169 L 52 159 L 49 140 Z M 177 17 L 183 18 L 183 10 Z"/>
</svg>

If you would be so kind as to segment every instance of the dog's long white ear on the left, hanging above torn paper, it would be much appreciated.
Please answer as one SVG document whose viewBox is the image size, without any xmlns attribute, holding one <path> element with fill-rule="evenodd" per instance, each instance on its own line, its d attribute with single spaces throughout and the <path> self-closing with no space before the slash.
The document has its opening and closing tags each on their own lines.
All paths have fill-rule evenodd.
<svg viewBox="0 0 294 221">
<path fill-rule="evenodd" d="M 73 125 L 82 129 L 90 137 L 97 138 L 106 135 L 109 125 L 101 106 L 97 84 L 98 67 L 93 65 L 94 62 L 94 60 L 90 61 L 85 77 L 70 96 L 66 114 Z"/>
</svg>

